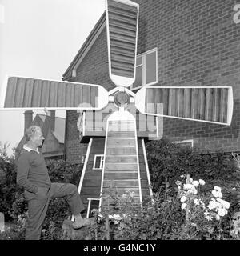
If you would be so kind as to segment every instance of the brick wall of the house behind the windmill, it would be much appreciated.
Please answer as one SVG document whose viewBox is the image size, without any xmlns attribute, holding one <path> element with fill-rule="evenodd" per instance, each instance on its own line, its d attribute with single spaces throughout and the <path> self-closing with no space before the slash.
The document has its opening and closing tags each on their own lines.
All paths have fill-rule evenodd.
<svg viewBox="0 0 240 256">
<path fill-rule="evenodd" d="M 158 47 L 158 86 L 233 86 L 231 126 L 164 118 L 164 137 L 194 139 L 194 146 L 226 152 L 240 151 L 240 24 L 233 21 L 234 0 L 136 0 L 140 4 L 138 54 Z M 114 88 L 108 77 L 106 29 L 77 69 L 74 81 Z M 156 85 L 155 85 L 156 86 Z M 70 140 L 68 112 L 67 148 Z M 75 121 L 74 121 L 75 120 Z M 74 131 L 75 130 L 75 131 Z M 69 140 L 69 141 L 68 141 Z M 70 158 L 73 158 L 71 156 Z"/>
</svg>

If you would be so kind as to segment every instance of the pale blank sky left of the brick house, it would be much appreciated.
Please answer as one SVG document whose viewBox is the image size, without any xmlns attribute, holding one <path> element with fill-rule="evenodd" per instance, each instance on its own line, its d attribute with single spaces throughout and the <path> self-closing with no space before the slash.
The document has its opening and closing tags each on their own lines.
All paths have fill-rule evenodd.
<svg viewBox="0 0 240 256">
<path fill-rule="evenodd" d="M 104 9 L 104 0 L 0 0 L 0 92 L 6 75 L 62 80 Z M 23 111 L 0 110 L 9 155 L 23 131 Z"/>
</svg>

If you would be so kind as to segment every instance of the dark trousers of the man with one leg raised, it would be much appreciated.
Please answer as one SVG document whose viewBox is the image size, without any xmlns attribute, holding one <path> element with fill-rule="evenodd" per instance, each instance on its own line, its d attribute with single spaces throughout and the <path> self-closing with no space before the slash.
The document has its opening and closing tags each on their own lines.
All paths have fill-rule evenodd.
<svg viewBox="0 0 240 256">
<path fill-rule="evenodd" d="M 65 198 L 72 214 L 80 214 L 85 210 L 77 186 L 70 183 L 52 183 L 50 188 L 38 187 L 38 193 L 24 192 L 28 201 L 28 215 L 26 222 L 26 240 L 39 240 L 42 223 L 46 217 L 50 198 Z"/>
</svg>

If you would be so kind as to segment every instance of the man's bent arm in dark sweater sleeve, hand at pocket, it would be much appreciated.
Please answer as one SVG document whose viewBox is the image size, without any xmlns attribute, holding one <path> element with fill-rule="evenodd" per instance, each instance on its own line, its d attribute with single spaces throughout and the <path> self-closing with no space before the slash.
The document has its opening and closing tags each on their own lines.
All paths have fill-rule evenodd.
<svg viewBox="0 0 240 256">
<path fill-rule="evenodd" d="M 30 170 L 30 161 L 27 154 L 22 154 L 18 158 L 18 173 L 17 173 L 17 183 L 22 186 L 24 190 L 37 194 L 38 186 L 35 186 L 27 178 L 28 172 Z"/>
</svg>

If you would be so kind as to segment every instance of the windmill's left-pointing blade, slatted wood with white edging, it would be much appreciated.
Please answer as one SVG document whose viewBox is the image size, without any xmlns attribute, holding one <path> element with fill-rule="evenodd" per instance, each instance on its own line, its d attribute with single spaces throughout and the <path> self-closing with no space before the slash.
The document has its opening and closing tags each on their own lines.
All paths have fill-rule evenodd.
<svg viewBox="0 0 240 256">
<path fill-rule="evenodd" d="M 2 87 L 0 110 L 101 110 L 108 104 L 102 86 L 9 77 Z"/>
</svg>

